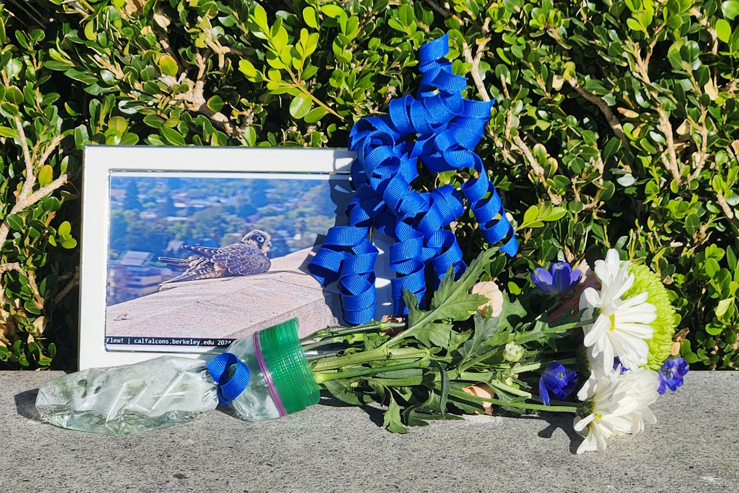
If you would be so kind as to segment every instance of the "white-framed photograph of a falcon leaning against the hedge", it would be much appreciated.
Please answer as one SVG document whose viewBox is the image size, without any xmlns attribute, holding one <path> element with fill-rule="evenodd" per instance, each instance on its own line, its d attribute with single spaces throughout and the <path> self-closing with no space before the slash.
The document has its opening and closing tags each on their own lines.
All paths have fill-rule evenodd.
<svg viewBox="0 0 739 493">
<path fill-rule="evenodd" d="M 307 264 L 346 223 L 344 149 L 88 146 L 80 369 L 217 353 L 298 316 L 341 322 Z M 386 245 L 378 245 L 386 251 Z M 378 316 L 389 275 L 378 276 Z"/>
</svg>

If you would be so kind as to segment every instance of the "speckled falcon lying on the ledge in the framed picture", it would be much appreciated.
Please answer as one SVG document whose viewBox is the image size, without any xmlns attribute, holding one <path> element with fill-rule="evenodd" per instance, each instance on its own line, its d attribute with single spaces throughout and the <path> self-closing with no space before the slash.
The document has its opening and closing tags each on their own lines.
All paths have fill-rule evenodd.
<svg viewBox="0 0 739 493">
<path fill-rule="evenodd" d="M 240 242 L 220 248 L 182 245 L 180 248 L 191 251 L 194 255 L 186 259 L 158 257 L 161 262 L 170 267 L 185 269 L 185 272 L 179 276 L 168 279 L 162 284 L 265 273 L 269 271 L 271 265 L 270 259 L 267 258 L 267 252 L 272 248 L 271 240 L 272 237 L 265 231 L 254 229 L 248 232 Z"/>
</svg>

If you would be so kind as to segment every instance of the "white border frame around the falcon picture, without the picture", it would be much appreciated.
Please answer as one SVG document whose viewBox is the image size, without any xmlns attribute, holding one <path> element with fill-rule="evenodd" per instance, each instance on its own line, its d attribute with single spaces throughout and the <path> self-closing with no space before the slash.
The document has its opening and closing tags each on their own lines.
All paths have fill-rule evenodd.
<svg viewBox="0 0 739 493">
<path fill-rule="evenodd" d="M 176 354 L 106 349 L 106 296 L 112 174 L 118 172 L 182 174 L 332 174 L 347 180 L 355 154 L 347 149 L 208 148 L 179 146 L 86 146 L 83 162 L 79 370 L 131 364 Z M 387 245 L 378 244 L 378 312 L 389 313 L 390 270 Z"/>
</svg>

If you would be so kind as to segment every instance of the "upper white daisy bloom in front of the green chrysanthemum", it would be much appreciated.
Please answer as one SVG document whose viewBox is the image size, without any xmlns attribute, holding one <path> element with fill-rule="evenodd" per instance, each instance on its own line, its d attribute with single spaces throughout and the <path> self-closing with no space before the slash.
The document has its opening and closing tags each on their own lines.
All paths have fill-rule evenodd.
<svg viewBox="0 0 739 493">
<path fill-rule="evenodd" d="M 647 302 L 649 293 L 621 299 L 634 284 L 628 265 L 629 262 L 619 260 L 619 252 L 609 250 L 605 261 L 596 261 L 600 290 L 587 288 L 580 296 L 580 310 L 585 309 L 582 318 L 596 319 L 582 327 L 583 342 L 588 347 L 590 361 L 594 366 L 600 365 L 604 373 L 613 368 L 615 356 L 630 370 L 646 364 L 647 339 L 654 334 L 650 322 L 656 317 L 656 309 Z"/>
</svg>

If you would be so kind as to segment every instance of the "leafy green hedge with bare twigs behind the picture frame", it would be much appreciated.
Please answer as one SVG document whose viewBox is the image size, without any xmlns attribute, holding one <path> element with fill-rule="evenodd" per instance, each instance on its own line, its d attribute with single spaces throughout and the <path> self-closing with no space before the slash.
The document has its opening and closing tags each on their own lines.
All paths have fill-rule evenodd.
<svg viewBox="0 0 739 493">
<path fill-rule="evenodd" d="M 0 9 L 0 367 L 75 365 L 85 144 L 346 146 L 443 33 L 466 96 L 497 100 L 477 151 L 521 244 L 500 282 L 619 248 L 670 288 L 694 367 L 739 364 L 738 0 Z M 483 248 L 469 218 L 455 232 Z"/>
</svg>

